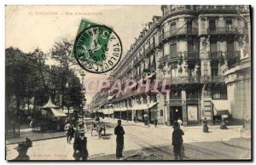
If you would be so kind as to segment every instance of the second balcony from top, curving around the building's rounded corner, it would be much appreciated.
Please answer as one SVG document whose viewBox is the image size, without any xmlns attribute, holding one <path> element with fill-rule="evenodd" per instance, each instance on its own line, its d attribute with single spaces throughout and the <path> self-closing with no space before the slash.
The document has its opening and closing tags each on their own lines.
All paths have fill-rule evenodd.
<svg viewBox="0 0 256 165">
<path fill-rule="evenodd" d="M 198 35 L 198 29 L 197 28 L 187 28 L 187 27 L 182 27 L 182 28 L 176 28 L 173 29 L 172 31 L 166 31 L 163 34 L 160 35 L 159 41 L 160 43 L 166 40 L 167 38 L 170 37 L 177 37 L 179 35 Z"/>
</svg>

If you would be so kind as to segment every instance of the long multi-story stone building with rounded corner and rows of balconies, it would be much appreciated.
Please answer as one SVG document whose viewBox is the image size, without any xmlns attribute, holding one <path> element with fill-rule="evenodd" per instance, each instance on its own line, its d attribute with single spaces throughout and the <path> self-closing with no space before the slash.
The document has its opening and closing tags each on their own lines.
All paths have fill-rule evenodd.
<svg viewBox="0 0 256 165">
<path fill-rule="evenodd" d="M 127 79 L 149 79 L 149 90 L 98 93 L 91 108 L 112 108 L 115 117 L 139 121 L 147 114 L 149 122 L 158 119 L 166 125 L 180 117 L 185 126 L 199 125 L 204 117 L 212 123 L 231 115 L 224 70 L 236 64 L 241 51 L 248 51 L 247 22 L 240 10 L 249 14 L 249 6 L 162 5 L 160 9 L 162 15 L 153 16 L 112 73 L 122 87 Z M 168 90 L 152 90 L 155 79 L 166 79 Z"/>
</svg>

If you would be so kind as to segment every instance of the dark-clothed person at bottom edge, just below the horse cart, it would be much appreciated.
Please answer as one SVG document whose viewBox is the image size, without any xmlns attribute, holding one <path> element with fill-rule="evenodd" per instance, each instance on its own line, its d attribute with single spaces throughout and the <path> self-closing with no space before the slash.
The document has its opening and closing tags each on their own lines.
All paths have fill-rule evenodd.
<svg viewBox="0 0 256 165">
<path fill-rule="evenodd" d="M 74 139 L 73 143 L 73 157 L 77 161 L 80 159 L 87 160 L 89 154 L 87 151 L 87 138 L 84 137 L 84 130 L 80 129 L 78 134 L 78 137 Z"/>
</svg>

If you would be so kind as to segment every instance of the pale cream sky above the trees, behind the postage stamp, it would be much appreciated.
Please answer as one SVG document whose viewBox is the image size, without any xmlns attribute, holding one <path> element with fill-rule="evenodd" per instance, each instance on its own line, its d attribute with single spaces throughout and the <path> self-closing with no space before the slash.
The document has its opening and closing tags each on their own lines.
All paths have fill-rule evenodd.
<svg viewBox="0 0 256 165">
<path fill-rule="evenodd" d="M 81 19 L 113 28 L 122 42 L 123 56 L 135 42 L 143 25 L 161 15 L 158 6 L 7 6 L 5 9 L 5 48 L 32 52 L 35 48 L 49 53 L 55 42 L 67 38 L 74 41 Z M 54 65 L 53 60 L 47 64 Z M 108 72 L 109 73 L 109 72 Z M 99 76 L 85 72 L 85 79 Z M 101 75 L 108 77 L 108 74 Z M 92 95 L 86 94 L 90 102 Z"/>
</svg>

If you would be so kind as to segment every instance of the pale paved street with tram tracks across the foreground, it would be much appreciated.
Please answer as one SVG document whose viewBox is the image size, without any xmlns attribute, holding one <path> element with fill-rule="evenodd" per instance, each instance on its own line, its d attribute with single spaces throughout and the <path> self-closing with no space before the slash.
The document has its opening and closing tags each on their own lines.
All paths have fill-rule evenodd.
<svg viewBox="0 0 256 165">
<path fill-rule="evenodd" d="M 114 126 L 114 123 L 108 123 L 107 136 L 104 139 L 98 139 L 96 134 L 93 136 L 90 136 L 90 133 L 87 134 L 90 160 L 115 159 Z M 137 157 L 129 159 L 173 160 L 172 128 L 143 128 L 131 123 L 124 123 L 123 126 L 125 128 L 124 156 L 132 156 L 137 153 Z M 239 129 L 212 129 L 212 133 L 209 134 L 203 134 L 201 129 L 185 129 L 184 133 L 185 159 L 249 158 L 249 150 L 224 145 L 220 141 L 221 139 L 229 141 L 230 138 L 239 138 Z M 15 146 L 17 145 L 7 145 L 7 159 L 17 156 L 17 151 L 14 150 Z M 150 154 L 157 155 L 150 157 Z M 33 147 L 29 149 L 28 155 L 31 160 L 73 160 L 73 145 L 68 145 L 65 138 L 35 141 Z"/>
</svg>

